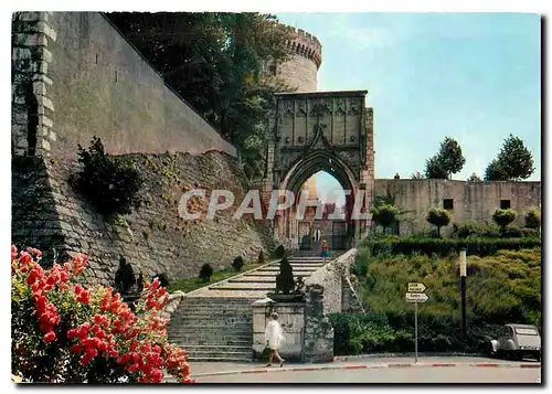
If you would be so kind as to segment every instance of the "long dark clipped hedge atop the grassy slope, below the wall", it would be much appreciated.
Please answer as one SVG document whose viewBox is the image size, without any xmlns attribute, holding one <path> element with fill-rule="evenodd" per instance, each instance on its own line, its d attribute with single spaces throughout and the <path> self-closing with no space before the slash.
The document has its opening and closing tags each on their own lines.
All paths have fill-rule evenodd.
<svg viewBox="0 0 552 394">
<path fill-rule="evenodd" d="M 448 256 L 466 247 L 468 255 L 480 257 L 493 255 L 499 249 L 519 251 L 541 246 L 539 238 L 382 238 L 367 239 L 360 247 L 368 248 L 372 256 L 383 254 L 422 253 Z"/>
</svg>

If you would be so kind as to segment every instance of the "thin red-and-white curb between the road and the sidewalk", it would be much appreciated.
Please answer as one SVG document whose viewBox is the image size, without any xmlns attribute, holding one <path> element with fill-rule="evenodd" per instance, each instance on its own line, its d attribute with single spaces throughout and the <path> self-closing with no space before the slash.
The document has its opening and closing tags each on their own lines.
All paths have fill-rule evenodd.
<svg viewBox="0 0 552 394">
<path fill-rule="evenodd" d="M 286 368 L 263 368 L 237 371 L 220 371 L 193 374 L 192 377 L 241 375 L 252 373 L 276 373 L 276 372 L 300 372 L 300 371 L 328 371 L 328 370 L 376 370 L 393 368 L 541 368 L 540 363 L 488 363 L 488 362 L 458 362 L 458 363 L 374 363 L 374 364 L 347 364 L 347 365 L 308 365 L 308 366 L 286 366 Z"/>
</svg>

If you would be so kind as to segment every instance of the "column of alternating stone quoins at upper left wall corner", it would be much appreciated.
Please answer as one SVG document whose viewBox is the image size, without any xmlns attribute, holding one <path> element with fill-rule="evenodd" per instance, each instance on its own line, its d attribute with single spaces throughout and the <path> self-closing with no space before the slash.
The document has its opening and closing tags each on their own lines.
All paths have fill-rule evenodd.
<svg viewBox="0 0 552 394">
<path fill-rule="evenodd" d="M 15 12 L 12 20 L 12 155 L 50 156 L 54 105 L 47 94 L 56 32 L 52 12 Z"/>
</svg>

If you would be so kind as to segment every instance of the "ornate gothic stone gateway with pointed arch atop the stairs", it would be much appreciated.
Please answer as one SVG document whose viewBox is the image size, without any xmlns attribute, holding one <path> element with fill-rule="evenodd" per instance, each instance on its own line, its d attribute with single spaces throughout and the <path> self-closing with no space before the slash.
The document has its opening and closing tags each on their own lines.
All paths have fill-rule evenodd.
<svg viewBox="0 0 552 394">
<path fill-rule="evenodd" d="M 351 241 L 359 238 L 369 223 L 349 216 L 359 191 L 364 192 L 364 209 L 370 205 L 374 184 L 373 109 L 365 108 L 367 93 L 276 94 L 277 109 L 268 125 L 265 202 L 272 190 L 297 194 L 312 174 L 326 171 L 351 190 L 347 222 Z M 296 205 L 275 217 L 274 232 L 277 242 L 298 248 Z"/>
</svg>

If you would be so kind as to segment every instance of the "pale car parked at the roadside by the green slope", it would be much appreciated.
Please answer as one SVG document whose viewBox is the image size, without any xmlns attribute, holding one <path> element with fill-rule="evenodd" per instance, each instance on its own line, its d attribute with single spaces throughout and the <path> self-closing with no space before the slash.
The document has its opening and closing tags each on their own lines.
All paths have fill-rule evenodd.
<svg viewBox="0 0 552 394">
<path fill-rule="evenodd" d="M 490 341 L 492 355 L 512 360 L 522 360 L 531 355 L 541 360 L 541 336 L 534 326 L 506 324 L 502 334 Z"/>
</svg>

